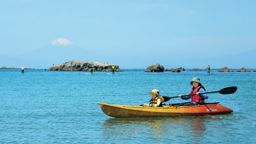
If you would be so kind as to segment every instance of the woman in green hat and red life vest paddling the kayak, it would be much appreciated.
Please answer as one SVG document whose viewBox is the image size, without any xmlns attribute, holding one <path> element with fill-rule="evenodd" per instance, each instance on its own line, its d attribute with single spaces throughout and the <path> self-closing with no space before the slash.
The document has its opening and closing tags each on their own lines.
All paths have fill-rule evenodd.
<svg viewBox="0 0 256 144">
<path fill-rule="evenodd" d="M 192 79 L 192 82 L 190 82 L 191 85 L 193 85 L 193 88 L 190 90 L 188 94 L 196 94 L 196 95 L 190 95 L 182 97 L 182 94 L 179 95 L 179 97 L 183 100 L 188 100 L 191 98 L 191 103 L 202 103 L 205 99 L 208 99 L 207 94 L 200 94 L 205 92 L 204 86 L 200 83 L 200 79 L 197 77 L 194 77 Z M 188 95 L 187 94 L 187 95 Z"/>
</svg>

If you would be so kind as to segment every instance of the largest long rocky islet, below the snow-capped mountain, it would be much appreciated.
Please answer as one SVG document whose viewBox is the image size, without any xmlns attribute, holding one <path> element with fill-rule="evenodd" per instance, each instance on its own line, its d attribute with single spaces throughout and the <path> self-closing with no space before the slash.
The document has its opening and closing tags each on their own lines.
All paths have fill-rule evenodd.
<svg viewBox="0 0 256 144">
<path fill-rule="evenodd" d="M 49 71 L 112 71 L 111 67 L 115 67 L 115 71 L 123 71 L 118 65 L 108 64 L 107 62 L 91 62 L 91 61 L 69 61 L 57 66 L 50 67 Z"/>
</svg>

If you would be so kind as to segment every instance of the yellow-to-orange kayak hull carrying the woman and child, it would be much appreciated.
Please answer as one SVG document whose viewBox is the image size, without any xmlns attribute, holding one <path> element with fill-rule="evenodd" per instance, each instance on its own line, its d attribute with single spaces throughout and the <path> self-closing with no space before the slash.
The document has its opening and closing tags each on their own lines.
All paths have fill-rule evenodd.
<svg viewBox="0 0 256 144">
<path fill-rule="evenodd" d="M 174 116 L 204 116 L 204 115 L 221 115 L 233 112 L 221 105 L 201 105 L 201 106 L 182 106 L 182 107 L 141 107 L 111 105 L 100 103 L 103 113 L 116 118 L 130 117 L 174 117 Z"/>
</svg>

